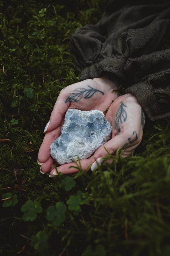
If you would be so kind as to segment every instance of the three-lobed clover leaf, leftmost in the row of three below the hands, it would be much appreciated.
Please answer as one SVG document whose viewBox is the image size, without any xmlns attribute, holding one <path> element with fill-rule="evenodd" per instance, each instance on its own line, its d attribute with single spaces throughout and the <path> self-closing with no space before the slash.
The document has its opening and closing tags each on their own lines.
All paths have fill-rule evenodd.
<svg viewBox="0 0 170 256">
<path fill-rule="evenodd" d="M 32 200 L 27 200 L 26 203 L 22 205 L 21 212 L 25 212 L 22 216 L 22 219 L 24 221 L 33 221 L 37 218 L 36 212 L 42 212 L 42 207 L 40 204 L 37 204 L 36 202 L 33 203 Z"/>
</svg>

